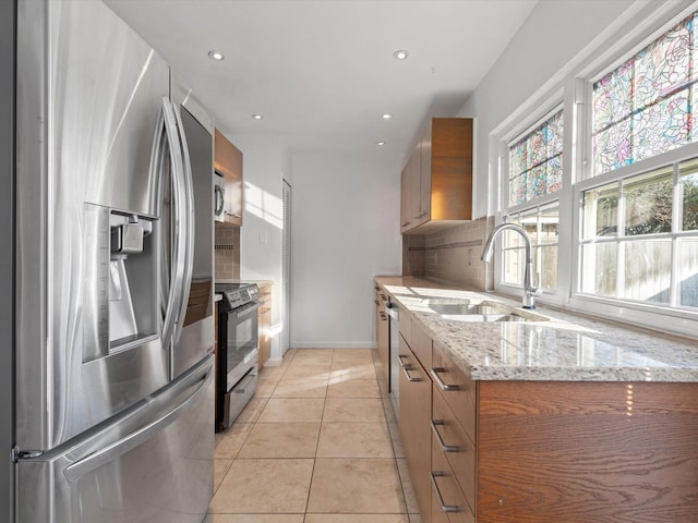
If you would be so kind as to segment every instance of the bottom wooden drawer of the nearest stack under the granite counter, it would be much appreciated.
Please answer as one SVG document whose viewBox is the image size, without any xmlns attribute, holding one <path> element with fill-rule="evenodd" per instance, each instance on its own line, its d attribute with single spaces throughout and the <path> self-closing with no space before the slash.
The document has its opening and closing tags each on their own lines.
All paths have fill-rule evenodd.
<svg viewBox="0 0 698 523">
<path fill-rule="evenodd" d="M 441 451 L 436 437 L 432 437 L 432 522 L 474 523 L 476 518 Z M 444 519 L 447 515 L 447 519 Z"/>
</svg>

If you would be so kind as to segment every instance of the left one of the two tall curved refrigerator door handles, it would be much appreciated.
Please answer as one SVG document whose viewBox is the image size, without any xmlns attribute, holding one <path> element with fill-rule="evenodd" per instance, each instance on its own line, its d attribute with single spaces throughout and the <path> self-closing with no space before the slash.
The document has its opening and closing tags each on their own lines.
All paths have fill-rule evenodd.
<svg viewBox="0 0 698 523">
<path fill-rule="evenodd" d="M 163 348 L 168 350 L 179 323 L 183 323 L 184 318 L 180 318 L 181 304 L 186 303 L 182 300 L 182 289 L 184 287 L 184 276 L 186 266 L 186 239 L 189 229 L 186 222 L 189 216 L 186 214 L 186 191 L 184 181 L 184 166 L 182 159 L 182 147 L 180 144 L 179 132 L 177 130 L 177 118 L 170 100 L 163 98 L 163 115 L 165 121 L 165 132 L 169 143 L 170 161 L 172 162 L 172 188 L 174 196 L 173 226 L 178 233 L 173 234 L 173 259 L 171 265 L 170 288 L 168 292 L 168 302 L 165 312 L 165 320 L 163 321 Z M 180 308 L 177 305 L 180 304 Z"/>
</svg>

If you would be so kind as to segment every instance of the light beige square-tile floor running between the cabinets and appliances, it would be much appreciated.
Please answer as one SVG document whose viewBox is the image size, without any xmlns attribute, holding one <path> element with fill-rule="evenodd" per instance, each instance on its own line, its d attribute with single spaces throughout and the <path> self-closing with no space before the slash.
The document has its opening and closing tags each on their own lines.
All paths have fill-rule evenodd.
<svg viewBox="0 0 698 523">
<path fill-rule="evenodd" d="M 363 349 L 297 349 L 216 435 L 205 523 L 420 523 L 397 419 Z"/>
</svg>

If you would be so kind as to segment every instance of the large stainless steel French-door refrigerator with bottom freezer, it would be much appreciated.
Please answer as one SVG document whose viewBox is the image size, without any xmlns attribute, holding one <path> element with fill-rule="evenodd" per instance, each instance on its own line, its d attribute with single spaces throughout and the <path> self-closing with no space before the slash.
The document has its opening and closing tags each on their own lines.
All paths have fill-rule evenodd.
<svg viewBox="0 0 698 523">
<path fill-rule="evenodd" d="M 198 523 L 213 122 L 103 2 L 12 3 L 13 519 Z"/>
</svg>

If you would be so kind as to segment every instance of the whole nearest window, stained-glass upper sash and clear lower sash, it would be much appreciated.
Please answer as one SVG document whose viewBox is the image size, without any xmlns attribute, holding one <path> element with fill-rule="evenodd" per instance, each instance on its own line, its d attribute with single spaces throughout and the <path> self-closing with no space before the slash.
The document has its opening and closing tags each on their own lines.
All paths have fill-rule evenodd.
<svg viewBox="0 0 698 523">
<path fill-rule="evenodd" d="M 582 294 L 698 307 L 698 158 L 686 147 L 698 142 L 697 23 L 685 17 L 592 84 L 590 175 L 604 183 L 580 191 Z"/>
</svg>

